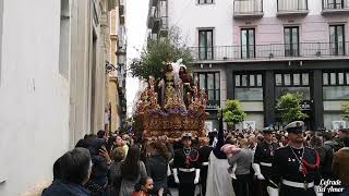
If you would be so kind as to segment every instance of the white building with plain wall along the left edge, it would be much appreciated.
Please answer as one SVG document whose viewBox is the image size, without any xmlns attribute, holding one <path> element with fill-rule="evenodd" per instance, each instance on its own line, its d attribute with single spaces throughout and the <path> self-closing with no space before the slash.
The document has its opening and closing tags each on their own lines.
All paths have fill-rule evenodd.
<svg viewBox="0 0 349 196">
<path fill-rule="evenodd" d="M 33 195 L 104 128 L 112 0 L 0 1 L 0 195 Z"/>
</svg>

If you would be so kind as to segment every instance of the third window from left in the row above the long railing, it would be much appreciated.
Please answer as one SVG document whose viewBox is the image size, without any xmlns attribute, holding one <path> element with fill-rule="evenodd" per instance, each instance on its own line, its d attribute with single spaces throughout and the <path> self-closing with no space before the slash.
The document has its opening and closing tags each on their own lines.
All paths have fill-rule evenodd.
<svg viewBox="0 0 349 196">
<path fill-rule="evenodd" d="M 296 26 L 285 27 L 285 56 L 297 57 L 299 56 L 299 28 Z"/>
</svg>

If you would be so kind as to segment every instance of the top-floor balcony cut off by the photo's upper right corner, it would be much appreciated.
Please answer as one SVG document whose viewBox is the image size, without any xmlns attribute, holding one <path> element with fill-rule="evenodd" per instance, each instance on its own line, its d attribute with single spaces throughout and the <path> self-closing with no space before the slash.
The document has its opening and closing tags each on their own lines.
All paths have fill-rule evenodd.
<svg viewBox="0 0 349 196">
<path fill-rule="evenodd" d="M 341 13 L 349 13 L 349 0 L 323 0 L 323 15 Z"/>
</svg>

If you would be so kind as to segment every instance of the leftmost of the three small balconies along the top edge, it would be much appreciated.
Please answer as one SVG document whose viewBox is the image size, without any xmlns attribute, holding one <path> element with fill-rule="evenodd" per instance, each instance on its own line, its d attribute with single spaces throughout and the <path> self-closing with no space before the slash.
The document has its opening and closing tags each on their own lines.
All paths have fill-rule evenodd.
<svg viewBox="0 0 349 196">
<path fill-rule="evenodd" d="M 263 17 L 263 0 L 234 0 L 233 19 Z"/>
</svg>

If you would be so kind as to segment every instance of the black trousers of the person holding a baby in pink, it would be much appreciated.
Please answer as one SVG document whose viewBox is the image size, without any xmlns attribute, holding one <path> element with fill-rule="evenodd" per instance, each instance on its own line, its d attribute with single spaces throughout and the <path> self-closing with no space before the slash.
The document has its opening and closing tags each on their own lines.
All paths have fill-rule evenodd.
<svg viewBox="0 0 349 196">
<path fill-rule="evenodd" d="M 232 187 L 236 196 L 252 196 L 250 193 L 252 179 L 250 174 L 237 175 L 237 180 L 232 180 Z"/>
</svg>

